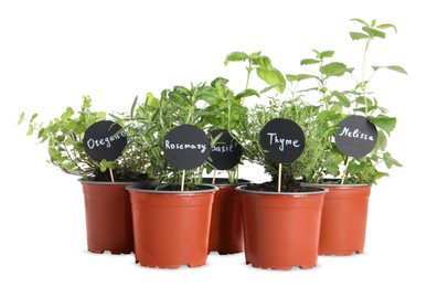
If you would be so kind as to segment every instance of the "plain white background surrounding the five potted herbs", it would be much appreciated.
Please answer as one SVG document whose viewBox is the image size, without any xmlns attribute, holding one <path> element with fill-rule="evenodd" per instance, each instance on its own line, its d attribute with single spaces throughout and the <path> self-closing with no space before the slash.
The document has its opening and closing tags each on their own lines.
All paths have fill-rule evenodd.
<svg viewBox="0 0 427 287">
<path fill-rule="evenodd" d="M 425 188 L 426 42 L 423 1 L 0 1 L 0 286 L 423 286 L 427 279 Z M 222 75 L 242 89 L 244 67 L 229 52 L 263 51 L 284 73 L 299 73 L 312 49 L 360 63 L 351 18 L 394 23 L 373 44 L 378 100 L 397 117 L 392 153 L 404 168 L 373 187 L 365 253 L 320 256 L 308 270 L 245 265 L 243 253 L 210 254 L 203 267 L 150 269 L 134 255 L 86 251 L 83 192 L 76 178 L 47 164 L 45 146 L 17 126 L 20 111 L 42 119 L 77 109 L 127 109 L 135 96 Z M 354 45 L 355 44 L 355 45 Z M 356 47 L 356 49 L 355 49 Z M 259 169 L 244 178 L 260 181 Z"/>
</svg>

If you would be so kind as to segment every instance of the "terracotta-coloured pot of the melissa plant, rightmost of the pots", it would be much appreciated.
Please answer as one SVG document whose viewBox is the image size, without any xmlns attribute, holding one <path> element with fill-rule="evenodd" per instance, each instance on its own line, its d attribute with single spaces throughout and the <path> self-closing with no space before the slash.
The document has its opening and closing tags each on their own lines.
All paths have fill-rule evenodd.
<svg viewBox="0 0 427 287">
<path fill-rule="evenodd" d="M 369 184 L 320 184 L 329 189 L 324 196 L 319 254 L 351 255 L 364 251 Z"/>
</svg>

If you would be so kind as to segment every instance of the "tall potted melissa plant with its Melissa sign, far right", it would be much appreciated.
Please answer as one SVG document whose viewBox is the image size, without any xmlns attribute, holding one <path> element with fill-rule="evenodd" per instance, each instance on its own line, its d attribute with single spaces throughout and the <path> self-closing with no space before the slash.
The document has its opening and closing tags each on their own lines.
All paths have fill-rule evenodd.
<svg viewBox="0 0 427 287">
<path fill-rule="evenodd" d="M 402 167 L 387 150 L 396 118 L 388 115 L 370 87 L 382 70 L 407 73 L 397 65 L 367 65 L 373 41 L 385 39 L 388 30 L 397 32 L 396 26 L 375 20 L 352 21 L 361 26 L 350 32 L 353 41 L 363 43 L 359 70 L 333 61 L 334 51 L 314 51 L 316 57 L 301 61 L 302 65 L 319 67 L 318 75 L 306 78 L 316 79 L 318 85 L 309 89 L 320 92 L 321 113 L 331 127 L 331 132 L 324 134 L 329 145 L 323 168 L 314 180 L 330 190 L 324 199 L 319 243 L 319 253 L 325 255 L 363 253 L 371 187 L 388 176 L 386 169 Z M 352 79 L 350 87 L 337 88 L 348 86 L 345 76 Z"/>
</svg>

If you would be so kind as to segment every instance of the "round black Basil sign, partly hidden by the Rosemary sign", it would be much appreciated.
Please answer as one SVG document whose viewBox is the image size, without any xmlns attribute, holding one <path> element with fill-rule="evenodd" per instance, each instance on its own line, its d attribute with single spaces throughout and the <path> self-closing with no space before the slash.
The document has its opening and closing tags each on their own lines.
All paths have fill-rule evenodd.
<svg viewBox="0 0 427 287">
<path fill-rule="evenodd" d="M 210 132 L 212 138 L 220 136 L 220 139 L 211 149 L 210 163 L 217 170 L 234 168 L 242 158 L 242 146 L 225 129 L 215 129 Z"/>
</svg>

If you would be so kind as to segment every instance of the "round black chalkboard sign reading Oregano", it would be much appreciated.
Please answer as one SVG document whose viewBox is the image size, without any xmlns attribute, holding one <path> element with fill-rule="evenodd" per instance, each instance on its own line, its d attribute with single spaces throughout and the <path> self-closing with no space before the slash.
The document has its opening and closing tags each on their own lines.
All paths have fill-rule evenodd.
<svg viewBox="0 0 427 287">
<path fill-rule="evenodd" d="M 83 137 L 83 146 L 89 158 L 96 161 L 116 160 L 120 157 L 128 139 L 126 132 L 119 132 L 121 126 L 111 120 L 100 120 L 90 125 Z"/>
</svg>

